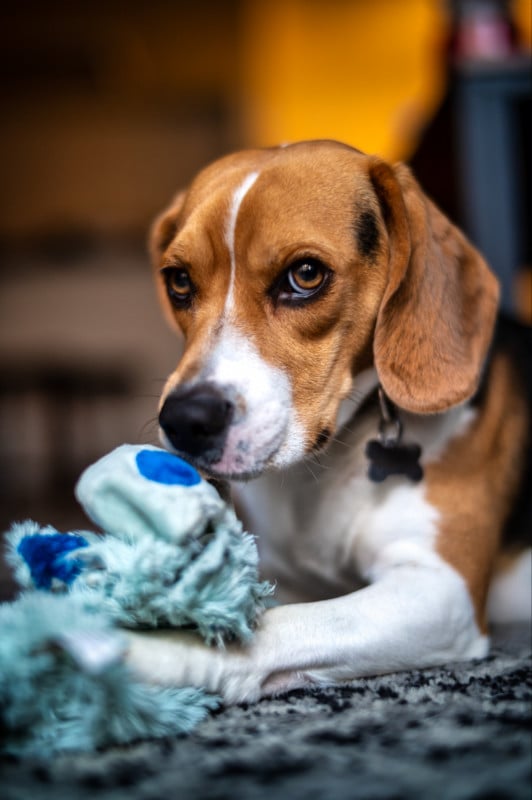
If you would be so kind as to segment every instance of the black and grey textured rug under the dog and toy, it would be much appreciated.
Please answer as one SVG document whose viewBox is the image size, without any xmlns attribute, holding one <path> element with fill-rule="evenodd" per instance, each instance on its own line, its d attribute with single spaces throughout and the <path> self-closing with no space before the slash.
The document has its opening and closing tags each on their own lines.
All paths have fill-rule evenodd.
<svg viewBox="0 0 532 800">
<path fill-rule="evenodd" d="M 187 737 L 48 765 L 6 759 L 3 800 L 530 800 L 531 633 L 468 664 L 225 709 Z"/>
</svg>

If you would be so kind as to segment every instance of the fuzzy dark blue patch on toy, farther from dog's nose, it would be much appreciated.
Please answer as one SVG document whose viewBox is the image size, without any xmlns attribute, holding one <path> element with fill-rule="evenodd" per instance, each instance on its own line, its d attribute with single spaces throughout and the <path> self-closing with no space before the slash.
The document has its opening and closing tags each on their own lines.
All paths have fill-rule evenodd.
<svg viewBox="0 0 532 800">
<path fill-rule="evenodd" d="M 73 550 L 87 547 L 83 536 L 75 533 L 35 533 L 25 536 L 17 547 L 37 589 L 50 589 L 54 578 L 70 586 L 81 572 L 81 563 L 71 558 Z"/>
</svg>

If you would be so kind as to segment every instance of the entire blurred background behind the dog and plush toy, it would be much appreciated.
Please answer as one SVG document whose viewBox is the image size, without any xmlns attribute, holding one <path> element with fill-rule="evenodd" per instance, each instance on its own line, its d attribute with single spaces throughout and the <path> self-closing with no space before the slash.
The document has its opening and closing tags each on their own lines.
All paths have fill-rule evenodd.
<svg viewBox="0 0 532 800">
<path fill-rule="evenodd" d="M 530 0 L 17 0 L 0 13 L 0 530 L 89 524 L 79 472 L 157 441 L 180 343 L 146 234 L 227 151 L 332 137 L 410 162 L 530 319 Z"/>
</svg>

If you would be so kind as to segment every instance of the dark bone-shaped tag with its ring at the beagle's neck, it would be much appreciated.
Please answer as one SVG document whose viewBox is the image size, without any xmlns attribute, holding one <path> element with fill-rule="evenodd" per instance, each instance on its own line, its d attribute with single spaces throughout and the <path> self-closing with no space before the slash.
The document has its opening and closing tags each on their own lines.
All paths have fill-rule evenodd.
<svg viewBox="0 0 532 800">
<path fill-rule="evenodd" d="M 392 475 L 404 475 L 414 483 L 423 478 L 423 467 L 419 463 L 421 447 L 414 442 L 403 442 L 403 424 L 397 407 L 386 396 L 382 386 L 378 388 L 380 422 L 379 438 L 366 445 L 369 460 L 368 477 L 374 483 L 382 483 Z"/>
</svg>

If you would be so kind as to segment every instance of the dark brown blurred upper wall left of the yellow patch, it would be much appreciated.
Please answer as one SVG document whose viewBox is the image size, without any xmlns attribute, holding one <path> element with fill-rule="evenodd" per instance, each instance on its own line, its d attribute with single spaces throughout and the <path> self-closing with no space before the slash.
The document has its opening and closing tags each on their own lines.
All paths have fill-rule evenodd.
<svg viewBox="0 0 532 800">
<path fill-rule="evenodd" d="M 238 3 L 3 4 L 0 235 L 144 232 L 234 146 Z"/>
</svg>

